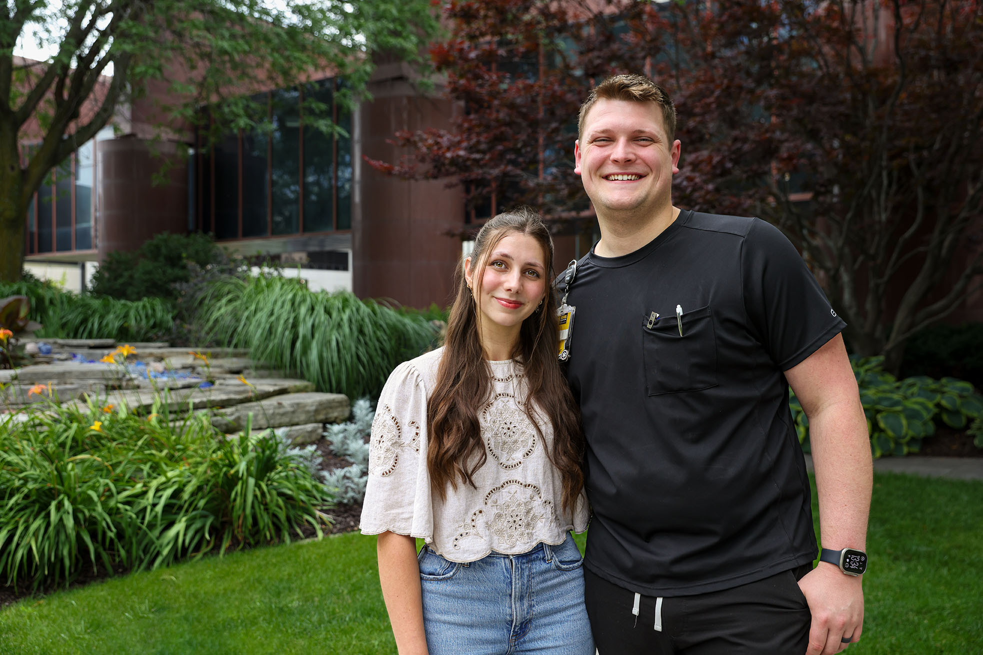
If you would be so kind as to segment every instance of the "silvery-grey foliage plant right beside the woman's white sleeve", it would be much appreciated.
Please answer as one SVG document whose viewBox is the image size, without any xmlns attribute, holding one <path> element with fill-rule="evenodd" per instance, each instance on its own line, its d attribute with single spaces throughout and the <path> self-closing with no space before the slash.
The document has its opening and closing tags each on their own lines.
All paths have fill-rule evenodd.
<svg viewBox="0 0 983 655">
<path fill-rule="evenodd" d="M 338 457 L 350 460 L 353 464 L 321 473 L 324 484 L 337 489 L 339 503 L 361 503 L 366 496 L 366 481 L 369 479 L 369 435 L 376 410 L 368 398 L 355 401 L 352 405 L 352 420 L 347 423 L 328 425 L 324 438 Z"/>
</svg>

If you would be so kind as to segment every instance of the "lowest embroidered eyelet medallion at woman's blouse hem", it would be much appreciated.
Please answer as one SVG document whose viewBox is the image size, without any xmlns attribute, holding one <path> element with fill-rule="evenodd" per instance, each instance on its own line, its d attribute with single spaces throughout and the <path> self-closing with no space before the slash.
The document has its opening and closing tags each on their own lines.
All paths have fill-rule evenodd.
<svg viewBox="0 0 983 655">
<path fill-rule="evenodd" d="M 460 550 L 460 542 L 472 536 L 509 548 L 532 543 L 541 524 L 558 520 L 552 501 L 543 499 L 543 490 L 520 480 L 505 480 L 493 487 L 485 494 L 485 506 L 459 526 L 454 550 Z"/>
</svg>

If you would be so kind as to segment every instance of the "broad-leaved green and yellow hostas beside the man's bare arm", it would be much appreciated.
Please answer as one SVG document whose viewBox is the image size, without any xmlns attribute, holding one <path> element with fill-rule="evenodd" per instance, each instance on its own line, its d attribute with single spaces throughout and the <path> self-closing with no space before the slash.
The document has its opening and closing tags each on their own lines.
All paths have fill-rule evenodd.
<svg viewBox="0 0 983 655">
<path fill-rule="evenodd" d="M 921 375 L 898 380 L 882 368 L 883 362 L 882 356 L 850 357 L 875 459 L 917 453 L 922 440 L 935 434 L 937 420 L 961 430 L 983 416 L 983 396 L 968 382 Z M 808 453 L 809 419 L 795 394 L 788 393 L 795 430 Z"/>
</svg>

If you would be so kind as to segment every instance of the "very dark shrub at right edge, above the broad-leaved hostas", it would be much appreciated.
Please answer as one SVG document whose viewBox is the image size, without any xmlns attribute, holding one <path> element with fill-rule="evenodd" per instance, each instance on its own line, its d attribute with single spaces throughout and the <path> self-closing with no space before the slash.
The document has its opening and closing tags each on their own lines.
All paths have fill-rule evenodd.
<svg viewBox="0 0 983 655">
<path fill-rule="evenodd" d="M 900 375 L 949 375 L 983 389 L 983 323 L 933 325 L 911 335 Z"/>
</svg>

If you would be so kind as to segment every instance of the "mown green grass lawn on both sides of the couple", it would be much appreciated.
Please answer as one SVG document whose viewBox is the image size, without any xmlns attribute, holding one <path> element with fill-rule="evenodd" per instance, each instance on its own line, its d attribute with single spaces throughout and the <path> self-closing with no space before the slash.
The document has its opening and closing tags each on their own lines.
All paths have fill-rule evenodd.
<svg viewBox="0 0 983 655">
<path fill-rule="evenodd" d="M 23 601 L 0 610 L 0 653 L 395 653 L 375 543 L 332 536 Z M 983 482 L 878 473 L 847 652 L 979 653 L 981 544 Z"/>
</svg>

